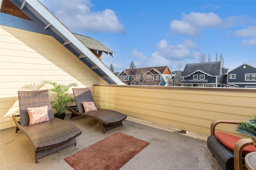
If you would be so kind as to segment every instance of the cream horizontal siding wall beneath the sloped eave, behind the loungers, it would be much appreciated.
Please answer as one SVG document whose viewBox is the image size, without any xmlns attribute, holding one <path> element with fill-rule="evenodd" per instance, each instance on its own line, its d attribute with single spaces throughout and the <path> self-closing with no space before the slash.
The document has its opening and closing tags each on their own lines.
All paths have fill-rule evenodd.
<svg viewBox="0 0 256 170">
<path fill-rule="evenodd" d="M 44 80 L 77 82 L 79 87 L 107 84 L 53 37 L 3 25 L 0 76 L 0 129 L 15 126 L 10 115 L 18 111 L 17 91 L 26 85 Z"/>
</svg>

